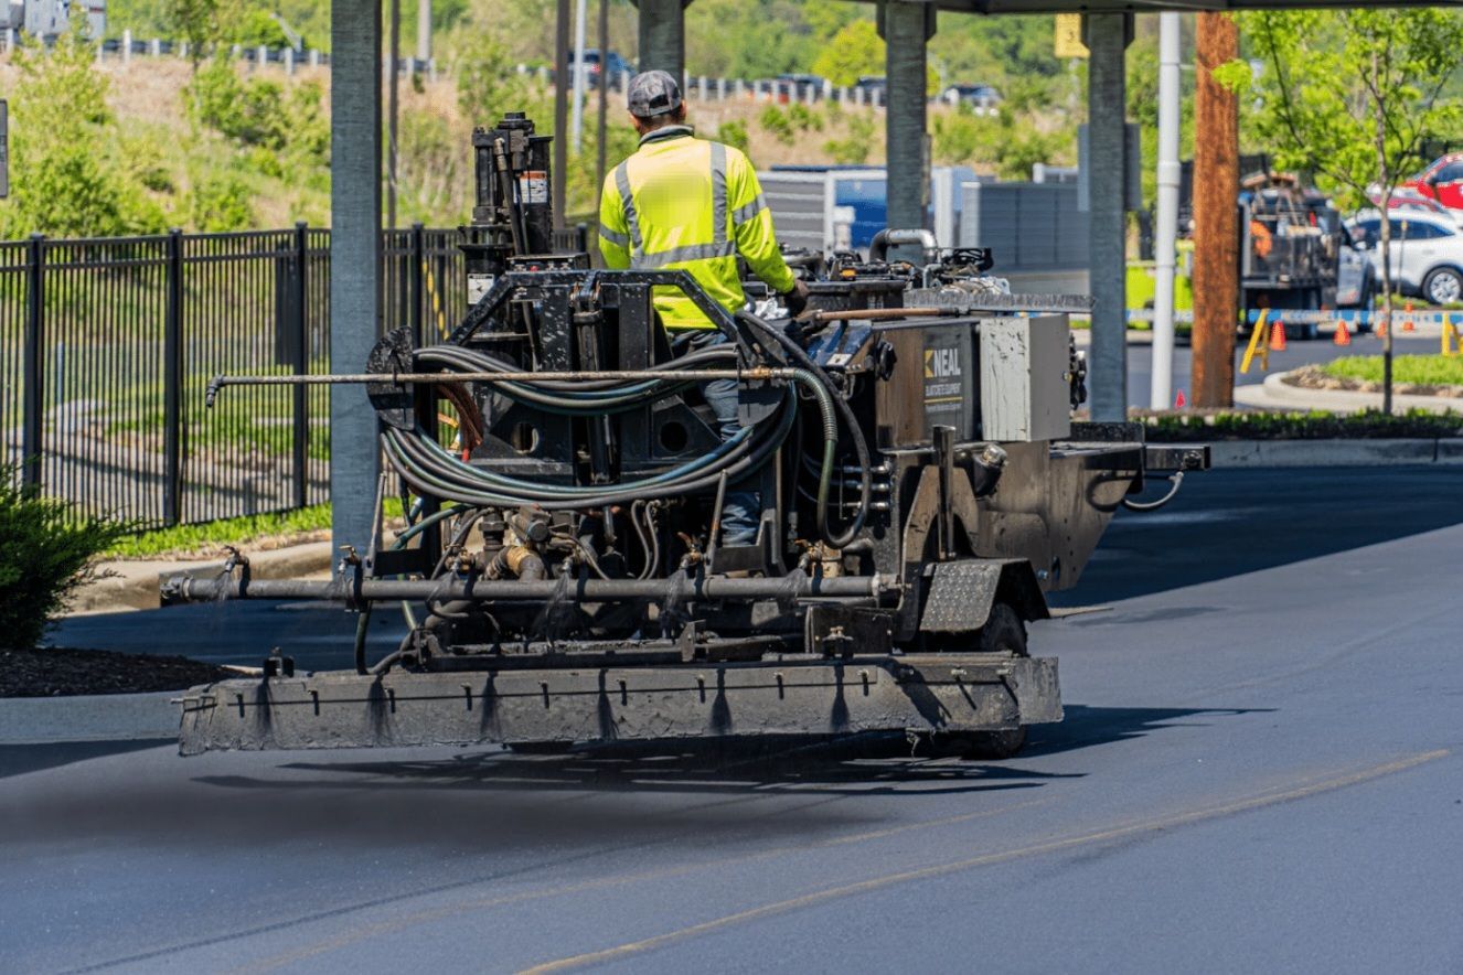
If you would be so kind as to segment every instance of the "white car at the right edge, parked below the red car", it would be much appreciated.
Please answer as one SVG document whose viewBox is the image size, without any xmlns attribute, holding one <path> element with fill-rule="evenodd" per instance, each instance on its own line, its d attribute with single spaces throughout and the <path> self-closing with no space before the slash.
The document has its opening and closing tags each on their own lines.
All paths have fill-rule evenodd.
<svg viewBox="0 0 1463 975">
<path fill-rule="evenodd" d="M 1381 282 L 1381 215 L 1365 210 L 1346 222 L 1358 250 Z M 1391 213 L 1391 281 L 1404 295 L 1434 304 L 1463 301 L 1463 231 L 1450 218 L 1422 210 Z"/>
</svg>

